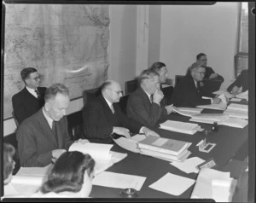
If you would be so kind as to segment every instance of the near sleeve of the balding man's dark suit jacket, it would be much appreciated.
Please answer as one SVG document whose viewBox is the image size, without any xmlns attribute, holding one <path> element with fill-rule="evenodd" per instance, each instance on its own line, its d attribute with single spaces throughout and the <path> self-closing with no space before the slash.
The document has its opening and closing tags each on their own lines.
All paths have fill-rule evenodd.
<svg viewBox="0 0 256 203">
<path fill-rule="evenodd" d="M 113 131 L 113 126 L 108 125 L 100 105 L 86 104 L 83 108 L 84 136 L 91 139 L 107 139 Z"/>
</svg>

